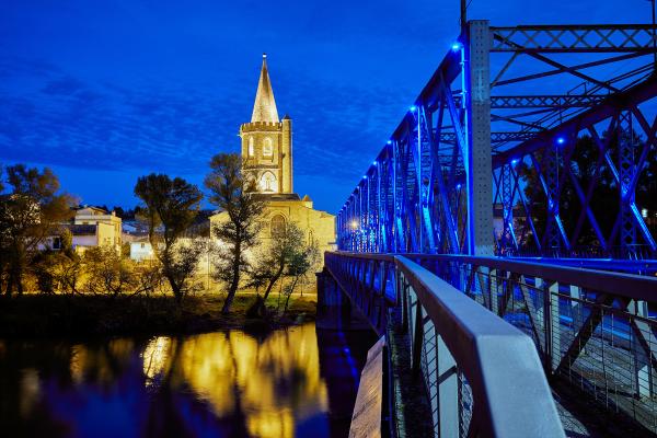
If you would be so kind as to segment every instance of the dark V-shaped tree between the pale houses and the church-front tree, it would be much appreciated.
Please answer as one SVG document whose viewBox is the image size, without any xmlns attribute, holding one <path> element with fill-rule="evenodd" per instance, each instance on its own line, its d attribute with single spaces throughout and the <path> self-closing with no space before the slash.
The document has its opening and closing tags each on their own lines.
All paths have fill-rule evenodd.
<svg viewBox="0 0 657 438">
<path fill-rule="evenodd" d="M 189 290 L 189 280 L 200 256 L 195 245 L 180 244 L 180 239 L 194 222 L 203 194 L 181 177 L 151 173 L 137 180 L 135 195 L 143 205 L 139 214 L 148 224 L 148 235 L 162 275 L 180 303 Z"/>
</svg>

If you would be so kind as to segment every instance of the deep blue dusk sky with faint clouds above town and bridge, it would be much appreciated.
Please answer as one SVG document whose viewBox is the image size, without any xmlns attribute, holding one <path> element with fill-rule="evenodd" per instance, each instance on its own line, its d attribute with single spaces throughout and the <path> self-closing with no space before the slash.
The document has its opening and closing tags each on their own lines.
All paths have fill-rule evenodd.
<svg viewBox="0 0 657 438">
<path fill-rule="evenodd" d="M 473 0 L 494 25 L 647 23 L 650 2 Z M 295 189 L 336 211 L 458 33 L 450 1 L 0 0 L 0 163 L 85 204 L 139 175 L 201 184 L 238 152 L 262 53 L 293 120 Z"/>
</svg>

